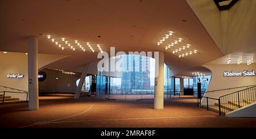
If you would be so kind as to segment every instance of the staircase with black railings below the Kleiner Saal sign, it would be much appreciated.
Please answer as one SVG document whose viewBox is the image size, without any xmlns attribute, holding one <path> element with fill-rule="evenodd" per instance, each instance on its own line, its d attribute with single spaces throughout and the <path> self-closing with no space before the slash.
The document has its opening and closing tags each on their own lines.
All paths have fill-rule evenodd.
<svg viewBox="0 0 256 139">
<path fill-rule="evenodd" d="M 204 98 L 214 99 L 208 97 Z M 214 103 L 214 105 L 208 105 L 208 109 L 210 111 L 220 113 L 220 115 L 225 115 L 225 113 L 245 107 L 256 102 L 256 86 L 220 96 L 218 98 L 218 102 L 220 102 L 220 104 Z M 207 105 L 203 105 L 202 107 L 207 108 Z"/>
</svg>

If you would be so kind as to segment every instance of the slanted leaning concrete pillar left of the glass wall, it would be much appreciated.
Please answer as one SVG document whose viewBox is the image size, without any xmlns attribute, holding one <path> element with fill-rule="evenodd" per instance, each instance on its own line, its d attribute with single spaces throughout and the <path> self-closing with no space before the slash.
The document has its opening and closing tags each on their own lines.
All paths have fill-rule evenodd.
<svg viewBox="0 0 256 139">
<path fill-rule="evenodd" d="M 85 77 L 88 73 L 89 66 L 90 66 L 90 63 L 87 63 L 84 66 L 84 70 L 82 71 L 82 75 L 80 77 L 79 85 L 76 87 L 76 92 L 75 92 L 74 99 L 79 99 L 79 97 L 80 97 L 82 85 L 84 84 L 84 80 L 85 80 Z"/>
</svg>

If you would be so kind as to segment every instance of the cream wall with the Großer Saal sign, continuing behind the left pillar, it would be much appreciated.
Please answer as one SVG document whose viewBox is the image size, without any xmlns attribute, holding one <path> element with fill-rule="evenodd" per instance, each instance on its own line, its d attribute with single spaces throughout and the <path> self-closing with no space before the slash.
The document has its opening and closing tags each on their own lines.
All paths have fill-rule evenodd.
<svg viewBox="0 0 256 139">
<path fill-rule="evenodd" d="M 67 55 L 58 54 L 39 54 L 38 68 L 43 68 L 51 62 L 67 57 Z M 27 55 L 25 53 L 8 52 L 4 54 L 0 52 L 0 85 L 12 87 L 14 89 L 28 91 L 28 68 Z M 24 74 L 23 78 L 7 78 L 7 74 Z M 14 94 L 9 93 L 11 96 Z M 9 95 L 9 96 L 10 96 Z"/>
</svg>

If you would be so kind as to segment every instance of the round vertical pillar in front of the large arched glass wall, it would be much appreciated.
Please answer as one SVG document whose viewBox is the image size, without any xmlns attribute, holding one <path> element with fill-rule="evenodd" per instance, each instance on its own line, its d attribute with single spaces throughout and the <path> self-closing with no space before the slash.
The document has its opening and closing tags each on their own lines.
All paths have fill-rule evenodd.
<svg viewBox="0 0 256 139">
<path fill-rule="evenodd" d="M 155 55 L 156 58 L 156 55 Z M 155 71 L 158 75 L 155 77 L 155 99 L 154 109 L 163 109 L 164 107 L 164 52 L 159 52 L 159 58 L 155 60 Z"/>
</svg>

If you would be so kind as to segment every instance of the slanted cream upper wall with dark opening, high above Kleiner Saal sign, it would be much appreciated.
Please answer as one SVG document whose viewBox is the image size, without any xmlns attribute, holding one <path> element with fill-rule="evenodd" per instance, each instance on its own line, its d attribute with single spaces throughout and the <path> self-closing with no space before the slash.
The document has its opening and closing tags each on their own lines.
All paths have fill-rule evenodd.
<svg viewBox="0 0 256 139">
<path fill-rule="evenodd" d="M 223 54 L 256 51 L 256 1 L 237 1 L 222 11 L 212 0 L 186 1 Z"/>
</svg>

